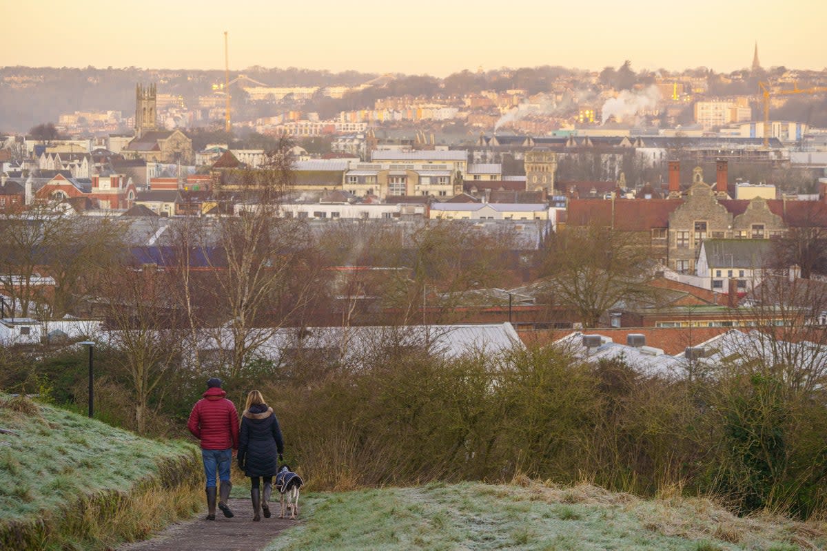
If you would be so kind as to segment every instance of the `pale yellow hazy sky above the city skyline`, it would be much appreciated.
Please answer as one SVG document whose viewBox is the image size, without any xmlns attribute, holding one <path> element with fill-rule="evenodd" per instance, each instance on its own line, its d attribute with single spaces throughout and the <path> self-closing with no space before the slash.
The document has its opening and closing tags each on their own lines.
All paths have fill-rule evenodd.
<svg viewBox="0 0 827 551">
<path fill-rule="evenodd" d="M 825 0 L 0 0 L 0 66 L 824 69 Z M 13 24 L 12 21 L 14 22 Z"/>
</svg>

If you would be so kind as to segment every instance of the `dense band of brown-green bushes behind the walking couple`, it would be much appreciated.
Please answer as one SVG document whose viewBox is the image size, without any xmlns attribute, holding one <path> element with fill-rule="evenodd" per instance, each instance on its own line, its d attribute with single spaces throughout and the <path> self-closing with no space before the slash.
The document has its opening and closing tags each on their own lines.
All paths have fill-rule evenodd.
<svg viewBox="0 0 827 551">
<path fill-rule="evenodd" d="M 351 359 L 308 350 L 280 365 L 251 363 L 223 374 L 224 387 L 237 404 L 252 388 L 264 393 L 289 463 L 315 489 L 523 474 L 644 496 L 700 493 L 740 514 L 825 512 L 825 391 L 787 378 L 772 358 L 722 363 L 705 376 L 687 362 L 667 377 L 624 359 L 585 363 L 562 345 L 446 359 L 425 342 L 403 345 L 403 332 L 377 333 Z M 98 358 L 96 411 L 131 426 L 117 354 Z M 28 384 L 83 411 L 77 356 L 36 361 Z M 6 379 L 10 367 L 0 372 Z M 185 434 L 204 380 L 167 370 L 151 402 L 152 434 Z"/>
</svg>

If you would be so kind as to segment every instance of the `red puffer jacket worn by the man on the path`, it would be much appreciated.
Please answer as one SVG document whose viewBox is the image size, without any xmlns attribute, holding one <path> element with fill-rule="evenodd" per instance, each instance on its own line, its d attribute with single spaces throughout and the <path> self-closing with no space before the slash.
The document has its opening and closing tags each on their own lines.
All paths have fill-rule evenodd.
<svg viewBox="0 0 827 551">
<path fill-rule="evenodd" d="M 238 413 L 227 392 L 208 388 L 195 402 L 187 428 L 201 440 L 201 449 L 238 449 Z"/>
</svg>

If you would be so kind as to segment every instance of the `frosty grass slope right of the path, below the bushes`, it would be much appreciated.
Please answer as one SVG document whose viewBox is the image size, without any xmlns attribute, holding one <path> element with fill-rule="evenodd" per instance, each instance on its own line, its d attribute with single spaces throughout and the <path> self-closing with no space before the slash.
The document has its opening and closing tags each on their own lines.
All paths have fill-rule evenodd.
<svg viewBox="0 0 827 551">
<path fill-rule="evenodd" d="M 266 551 L 304 549 L 825 549 L 824 525 L 739 518 L 706 499 L 646 501 L 581 484 L 429 484 L 303 496 Z"/>
</svg>

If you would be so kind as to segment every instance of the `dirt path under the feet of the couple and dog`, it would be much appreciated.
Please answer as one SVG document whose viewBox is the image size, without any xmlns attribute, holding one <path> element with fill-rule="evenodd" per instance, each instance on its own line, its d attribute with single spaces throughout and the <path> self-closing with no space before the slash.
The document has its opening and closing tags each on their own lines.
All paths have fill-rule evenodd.
<svg viewBox="0 0 827 551">
<path fill-rule="evenodd" d="M 253 522 L 249 499 L 230 499 L 235 516 L 227 519 L 217 511 L 214 522 L 203 520 L 206 508 L 194 520 L 172 525 L 152 539 L 127 544 L 118 551 L 256 551 L 275 539 L 281 530 L 294 526 L 296 520 L 279 519 L 279 503 L 270 503 L 273 516 Z"/>
</svg>

